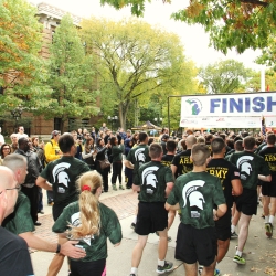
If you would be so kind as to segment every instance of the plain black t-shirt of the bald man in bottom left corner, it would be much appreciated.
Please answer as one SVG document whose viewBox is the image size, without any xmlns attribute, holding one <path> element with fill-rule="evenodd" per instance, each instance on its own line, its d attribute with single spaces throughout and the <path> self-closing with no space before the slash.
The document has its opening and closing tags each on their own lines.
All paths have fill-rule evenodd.
<svg viewBox="0 0 276 276">
<path fill-rule="evenodd" d="M 26 242 L 0 226 L 0 275 L 33 276 Z"/>
</svg>

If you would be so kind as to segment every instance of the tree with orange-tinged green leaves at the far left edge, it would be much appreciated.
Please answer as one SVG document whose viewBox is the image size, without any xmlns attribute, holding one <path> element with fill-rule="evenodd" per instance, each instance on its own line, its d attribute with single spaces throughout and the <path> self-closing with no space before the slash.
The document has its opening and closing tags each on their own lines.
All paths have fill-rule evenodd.
<svg viewBox="0 0 276 276">
<path fill-rule="evenodd" d="M 44 84 L 45 63 L 39 52 L 42 24 L 35 8 L 24 0 L 0 0 L 0 103 L 1 113 L 19 104 L 38 110 L 50 93 Z"/>
</svg>

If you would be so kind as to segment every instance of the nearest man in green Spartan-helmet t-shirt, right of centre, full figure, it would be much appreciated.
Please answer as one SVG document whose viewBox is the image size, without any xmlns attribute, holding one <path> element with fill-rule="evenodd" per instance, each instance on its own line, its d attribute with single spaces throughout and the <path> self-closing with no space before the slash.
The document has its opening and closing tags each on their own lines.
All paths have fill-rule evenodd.
<svg viewBox="0 0 276 276">
<path fill-rule="evenodd" d="M 181 209 L 176 258 L 184 262 L 187 275 L 198 274 L 198 262 L 204 266 L 203 275 L 214 275 L 217 255 L 214 220 L 227 210 L 220 179 L 206 172 L 209 157 L 208 146 L 192 147 L 193 170 L 178 177 L 166 202 L 168 211 Z"/>
</svg>

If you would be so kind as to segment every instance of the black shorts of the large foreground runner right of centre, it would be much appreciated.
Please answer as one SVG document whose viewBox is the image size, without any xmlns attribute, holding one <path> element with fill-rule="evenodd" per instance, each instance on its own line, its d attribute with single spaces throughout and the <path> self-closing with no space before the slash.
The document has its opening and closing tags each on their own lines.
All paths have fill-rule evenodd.
<svg viewBox="0 0 276 276">
<path fill-rule="evenodd" d="M 217 255 L 217 238 L 215 227 L 194 229 L 183 223 L 179 224 L 176 259 L 187 264 L 210 266 Z"/>
</svg>

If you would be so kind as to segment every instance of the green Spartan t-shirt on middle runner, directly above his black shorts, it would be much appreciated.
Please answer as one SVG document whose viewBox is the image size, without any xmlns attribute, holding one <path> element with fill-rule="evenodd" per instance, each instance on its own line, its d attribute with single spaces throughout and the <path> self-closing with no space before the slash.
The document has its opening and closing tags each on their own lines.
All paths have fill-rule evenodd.
<svg viewBox="0 0 276 276">
<path fill-rule="evenodd" d="M 166 202 L 168 182 L 173 182 L 171 169 L 161 162 L 150 161 L 139 168 L 134 184 L 140 185 L 139 201 Z"/>
</svg>

